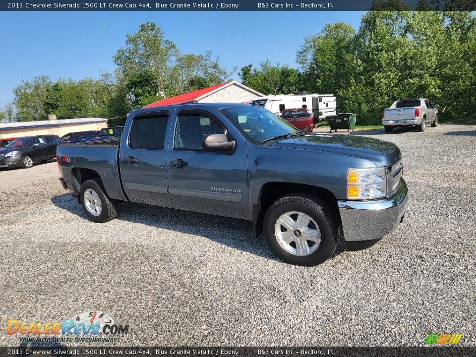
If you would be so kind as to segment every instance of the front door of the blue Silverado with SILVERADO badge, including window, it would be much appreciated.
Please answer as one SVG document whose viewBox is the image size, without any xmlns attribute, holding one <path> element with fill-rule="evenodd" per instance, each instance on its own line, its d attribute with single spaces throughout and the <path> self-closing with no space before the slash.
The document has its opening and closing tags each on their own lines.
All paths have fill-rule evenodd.
<svg viewBox="0 0 476 357">
<path fill-rule="evenodd" d="M 204 135 L 227 127 L 213 114 L 181 110 L 169 150 L 169 192 L 174 207 L 221 216 L 248 217 L 247 151 L 238 144 L 234 153 L 204 151 Z"/>
</svg>

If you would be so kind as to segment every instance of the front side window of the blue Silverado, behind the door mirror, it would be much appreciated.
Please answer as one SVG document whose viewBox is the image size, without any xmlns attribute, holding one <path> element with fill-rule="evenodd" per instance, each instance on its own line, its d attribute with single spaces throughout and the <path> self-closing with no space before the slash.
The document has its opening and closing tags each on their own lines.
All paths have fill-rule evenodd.
<svg viewBox="0 0 476 357">
<path fill-rule="evenodd" d="M 201 150 L 203 135 L 225 134 L 226 129 L 211 116 L 205 114 L 179 114 L 174 149 Z"/>
</svg>

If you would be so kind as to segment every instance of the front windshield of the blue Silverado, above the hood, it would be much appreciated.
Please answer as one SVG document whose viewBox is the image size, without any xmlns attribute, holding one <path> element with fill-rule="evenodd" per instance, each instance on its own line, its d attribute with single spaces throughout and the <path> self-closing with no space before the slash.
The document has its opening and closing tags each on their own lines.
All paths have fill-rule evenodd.
<svg viewBox="0 0 476 357">
<path fill-rule="evenodd" d="M 222 109 L 221 112 L 241 129 L 251 142 L 259 144 L 275 136 L 296 134 L 298 130 L 269 110 L 246 106 Z"/>
</svg>

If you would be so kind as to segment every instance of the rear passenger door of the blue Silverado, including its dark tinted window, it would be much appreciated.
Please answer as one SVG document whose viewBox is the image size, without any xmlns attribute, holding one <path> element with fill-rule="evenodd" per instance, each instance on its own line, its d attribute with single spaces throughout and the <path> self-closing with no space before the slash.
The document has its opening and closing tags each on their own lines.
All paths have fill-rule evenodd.
<svg viewBox="0 0 476 357">
<path fill-rule="evenodd" d="M 121 141 L 120 175 L 132 202 L 172 207 L 167 190 L 168 123 L 168 111 L 138 114 L 131 121 L 128 137 Z"/>
</svg>

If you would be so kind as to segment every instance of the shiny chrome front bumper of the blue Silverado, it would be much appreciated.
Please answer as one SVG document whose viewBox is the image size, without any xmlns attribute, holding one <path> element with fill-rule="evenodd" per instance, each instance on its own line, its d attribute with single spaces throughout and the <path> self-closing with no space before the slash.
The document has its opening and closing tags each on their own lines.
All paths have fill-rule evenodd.
<svg viewBox="0 0 476 357">
<path fill-rule="evenodd" d="M 338 201 L 344 239 L 364 241 L 382 238 L 403 221 L 407 209 L 407 183 L 403 178 L 395 194 L 379 201 Z"/>
</svg>

